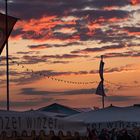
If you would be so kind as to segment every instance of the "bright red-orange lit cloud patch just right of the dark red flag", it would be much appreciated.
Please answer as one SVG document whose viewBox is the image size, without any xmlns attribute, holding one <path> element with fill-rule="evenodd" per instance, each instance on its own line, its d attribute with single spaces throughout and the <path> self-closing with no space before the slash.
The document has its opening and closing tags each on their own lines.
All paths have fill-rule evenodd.
<svg viewBox="0 0 140 140">
<path fill-rule="evenodd" d="M 57 16 L 43 16 L 40 19 L 30 19 L 28 21 L 19 21 L 15 27 L 15 35 L 12 38 L 24 38 L 37 41 L 54 40 L 57 37 L 53 36 L 55 27 L 60 25 L 64 29 L 63 25 L 76 25 L 76 19 L 69 21 L 63 21 Z M 66 29 L 67 27 L 65 27 Z M 74 30 L 74 28 L 71 27 Z M 17 32 L 17 33 L 16 33 Z M 74 37 L 75 38 L 75 37 Z"/>
</svg>

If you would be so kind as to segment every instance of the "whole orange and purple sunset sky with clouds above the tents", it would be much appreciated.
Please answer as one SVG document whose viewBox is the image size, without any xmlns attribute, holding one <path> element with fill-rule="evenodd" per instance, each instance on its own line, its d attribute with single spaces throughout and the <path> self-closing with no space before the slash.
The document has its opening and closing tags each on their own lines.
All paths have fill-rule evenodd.
<svg viewBox="0 0 140 140">
<path fill-rule="evenodd" d="M 0 0 L 1 13 L 4 7 Z M 101 107 L 101 55 L 105 105 L 140 103 L 140 0 L 9 0 L 8 12 L 20 19 L 9 39 L 11 109 Z M 5 73 L 4 50 L 0 109 Z"/>
</svg>

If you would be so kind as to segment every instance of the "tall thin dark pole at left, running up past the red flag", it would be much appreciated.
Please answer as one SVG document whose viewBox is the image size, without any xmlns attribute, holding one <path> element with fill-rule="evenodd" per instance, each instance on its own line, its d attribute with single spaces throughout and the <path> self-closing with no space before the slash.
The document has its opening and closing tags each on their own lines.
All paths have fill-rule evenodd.
<svg viewBox="0 0 140 140">
<path fill-rule="evenodd" d="M 5 0 L 5 13 L 6 13 L 6 75 L 7 75 L 7 111 L 9 108 L 9 47 L 8 47 L 8 0 Z"/>
</svg>

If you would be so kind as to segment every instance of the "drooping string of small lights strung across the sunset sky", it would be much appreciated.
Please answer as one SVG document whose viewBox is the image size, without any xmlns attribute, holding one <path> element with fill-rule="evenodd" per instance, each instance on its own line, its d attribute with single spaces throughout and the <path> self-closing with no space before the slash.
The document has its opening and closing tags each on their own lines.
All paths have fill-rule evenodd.
<svg viewBox="0 0 140 140">
<path fill-rule="evenodd" d="M 45 74 L 45 73 L 34 72 L 33 69 L 27 68 L 26 66 L 24 66 L 23 64 L 20 64 L 19 62 L 13 60 L 12 58 L 9 58 L 9 59 L 11 60 L 11 62 L 13 64 L 16 64 L 17 66 L 20 66 L 21 68 L 24 68 L 27 72 L 31 72 L 32 74 L 37 75 L 37 76 L 43 76 L 43 77 L 51 79 L 53 81 L 63 82 L 63 83 L 67 83 L 67 84 L 78 84 L 78 85 L 89 85 L 89 84 L 98 84 L 99 83 L 98 81 L 77 82 L 77 81 L 59 79 L 59 78 L 56 78 L 54 76 L 48 76 L 48 74 Z M 106 85 L 112 85 L 112 86 L 116 87 L 117 89 L 119 87 L 123 87 L 123 88 L 140 87 L 140 85 L 138 85 L 138 84 L 136 84 L 134 86 L 134 85 L 128 85 L 128 84 L 123 83 L 123 85 L 122 85 L 122 84 L 110 82 L 108 80 L 105 80 L 105 83 L 106 83 Z"/>
</svg>

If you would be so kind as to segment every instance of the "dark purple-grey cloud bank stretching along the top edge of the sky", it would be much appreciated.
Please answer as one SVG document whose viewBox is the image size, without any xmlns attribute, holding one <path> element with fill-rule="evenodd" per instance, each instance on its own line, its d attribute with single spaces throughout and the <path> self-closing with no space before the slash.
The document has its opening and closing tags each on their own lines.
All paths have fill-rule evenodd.
<svg viewBox="0 0 140 140">
<path fill-rule="evenodd" d="M 32 2 L 28 0 L 13 0 L 9 3 L 10 12 L 16 15 L 17 17 L 29 19 L 29 18 L 39 18 L 42 15 L 67 15 L 71 11 L 80 11 L 89 8 L 98 8 L 103 9 L 105 7 L 122 7 L 126 5 L 136 4 L 139 0 L 53 0 L 53 1 L 44 1 L 44 0 L 34 0 Z M 130 3 L 131 2 L 131 3 Z M 3 2 L 1 2 L 3 4 Z M 1 8 L 3 8 L 1 6 Z M 26 9 L 26 10 L 25 10 Z M 19 12 L 22 11 L 22 12 Z M 32 12 L 37 11 L 37 12 Z"/>
</svg>

